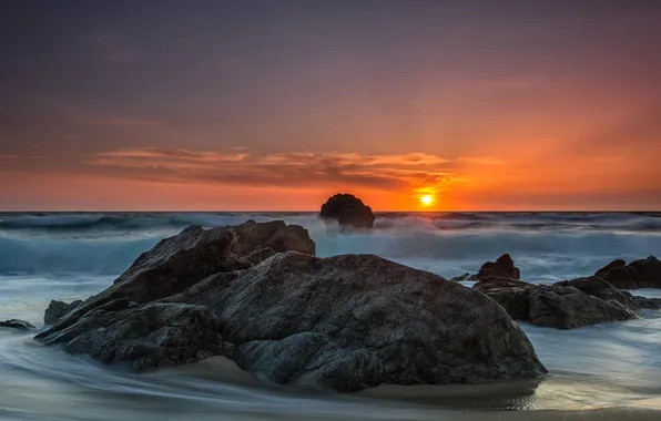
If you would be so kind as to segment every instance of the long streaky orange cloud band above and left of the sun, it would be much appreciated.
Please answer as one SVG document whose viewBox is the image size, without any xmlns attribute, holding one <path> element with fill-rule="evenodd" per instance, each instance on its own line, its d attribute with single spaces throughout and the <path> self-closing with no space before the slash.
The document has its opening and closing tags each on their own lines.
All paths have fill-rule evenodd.
<svg viewBox="0 0 661 421">
<path fill-rule="evenodd" d="M 228 183 L 271 186 L 338 184 L 384 191 L 440 191 L 461 177 L 459 160 L 426 154 L 289 152 L 268 155 L 222 154 L 183 148 L 103 152 L 88 164 L 115 176 L 169 183 Z"/>
</svg>

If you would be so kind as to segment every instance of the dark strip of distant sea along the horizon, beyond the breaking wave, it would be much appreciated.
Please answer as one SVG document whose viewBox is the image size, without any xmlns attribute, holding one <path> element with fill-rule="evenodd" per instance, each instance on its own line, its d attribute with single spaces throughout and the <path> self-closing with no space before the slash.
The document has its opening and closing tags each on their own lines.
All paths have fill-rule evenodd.
<svg viewBox="0 0 661 421">
<path fill-rule="evenodd" d="M 661 233 L 653 213 L 377 213 L 377 229 Z M 314 213 L 33 213 L 0 214 L 2 232 L 136 232 L 236 225 L 248 218 L 311 224 Z"/>
</svg>

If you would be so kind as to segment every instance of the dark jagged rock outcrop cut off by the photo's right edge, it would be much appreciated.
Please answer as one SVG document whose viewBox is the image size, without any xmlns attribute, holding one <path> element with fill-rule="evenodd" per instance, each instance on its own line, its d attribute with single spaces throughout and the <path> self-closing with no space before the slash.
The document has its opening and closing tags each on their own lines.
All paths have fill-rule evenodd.
<svg viewBox="0 0 661 421">
<path fill-rule="evenodd" d="M 613 288 L 661 288 L 661 261 L 654 256 L 633 260 L 629 265 L 617 259 L 597 270 L 594 277 Z"/>
</svg>

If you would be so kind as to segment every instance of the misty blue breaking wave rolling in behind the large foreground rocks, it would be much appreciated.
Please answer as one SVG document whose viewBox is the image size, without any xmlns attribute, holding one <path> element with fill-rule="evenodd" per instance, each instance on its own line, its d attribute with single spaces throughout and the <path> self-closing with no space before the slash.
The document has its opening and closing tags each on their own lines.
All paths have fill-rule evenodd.
<svg viewBox="0 0 661 421">
<path fill-rule="evenodd" d="M 235 225 L 268 215 L 186 215 L 177 224 L 160 229 L 129 232 L 92 230 L 85 235 L 62 233 L 0 233 L 0 275 L 85 273 L 119 275 L 161 238 L 175 235 L 185 225 Z M 504 253 L 512 255 L 523 273 L 540 279 L 592 274 L 614 258 L 634 259 L 661 254 L 661 235 L 606 230 L 525 230 L 517 228 L 439 228 L 439 222 L 415 215 L 382 218 L 377 229 L 334 235 L 314 215 L 278 215 L 289 224 L 306 227 L 317 245 L 317 255 L 375 254 L 409 266 L 451 277 L 476 271 Z M 196 220 L 193 220 L 197 218 Z M 170 219 L 173 220 L 173 219 Z M 444 223 L 446 224 L 446 223 Z M 450 224 L 472 224 L 455 222 Z M 152 227 L 153 228 L 153 227 Z"/>
</svg>

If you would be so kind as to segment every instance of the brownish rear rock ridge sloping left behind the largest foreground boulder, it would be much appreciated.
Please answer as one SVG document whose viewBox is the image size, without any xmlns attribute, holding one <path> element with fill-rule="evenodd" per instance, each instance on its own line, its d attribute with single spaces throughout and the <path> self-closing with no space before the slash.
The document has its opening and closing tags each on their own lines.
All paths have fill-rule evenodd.
<svg viewBox="0 0 661 421">
<path fill-rule="evenodd" d="M 251 219 L 213 229 L 190 226 L 140 255 L 111 288 L 88 298 L 39 337 L 67 328 L 88 311 L 116 299 L 153 301 L 181 292 L 210 275 L 247 269 L 262 257 L 287 250 L 314 255 L 315 243 L 305 228 L 282 220 Z"/>
</svg>

